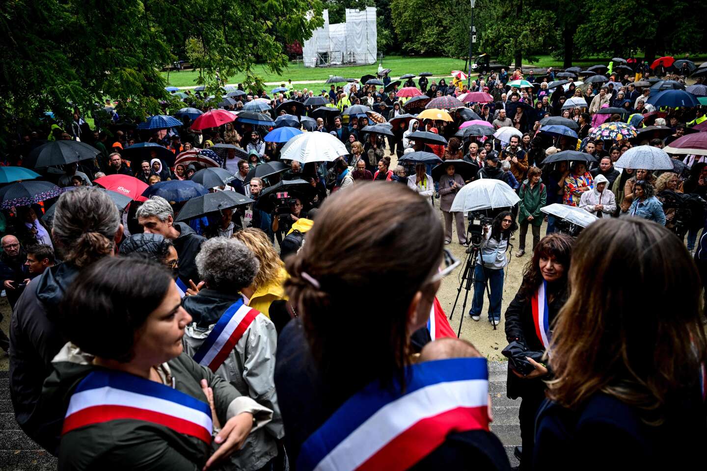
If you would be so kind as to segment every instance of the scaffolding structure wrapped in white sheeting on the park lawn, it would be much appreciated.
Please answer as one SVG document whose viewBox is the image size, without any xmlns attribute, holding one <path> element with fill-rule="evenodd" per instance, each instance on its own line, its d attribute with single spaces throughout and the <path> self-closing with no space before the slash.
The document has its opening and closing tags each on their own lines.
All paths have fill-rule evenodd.
<svg viewBox="0 0 707 471">
<path fill-rule="evenodd" d="M 375 64 L 378 55 L 378 29 L 375 7 L 365 10 L 346 8 L 346 23 L 329 24 L 329 11 L 323 12 L 324 25 L 312 32 L 302 47 L 305 67 Z"/>
</svg>

